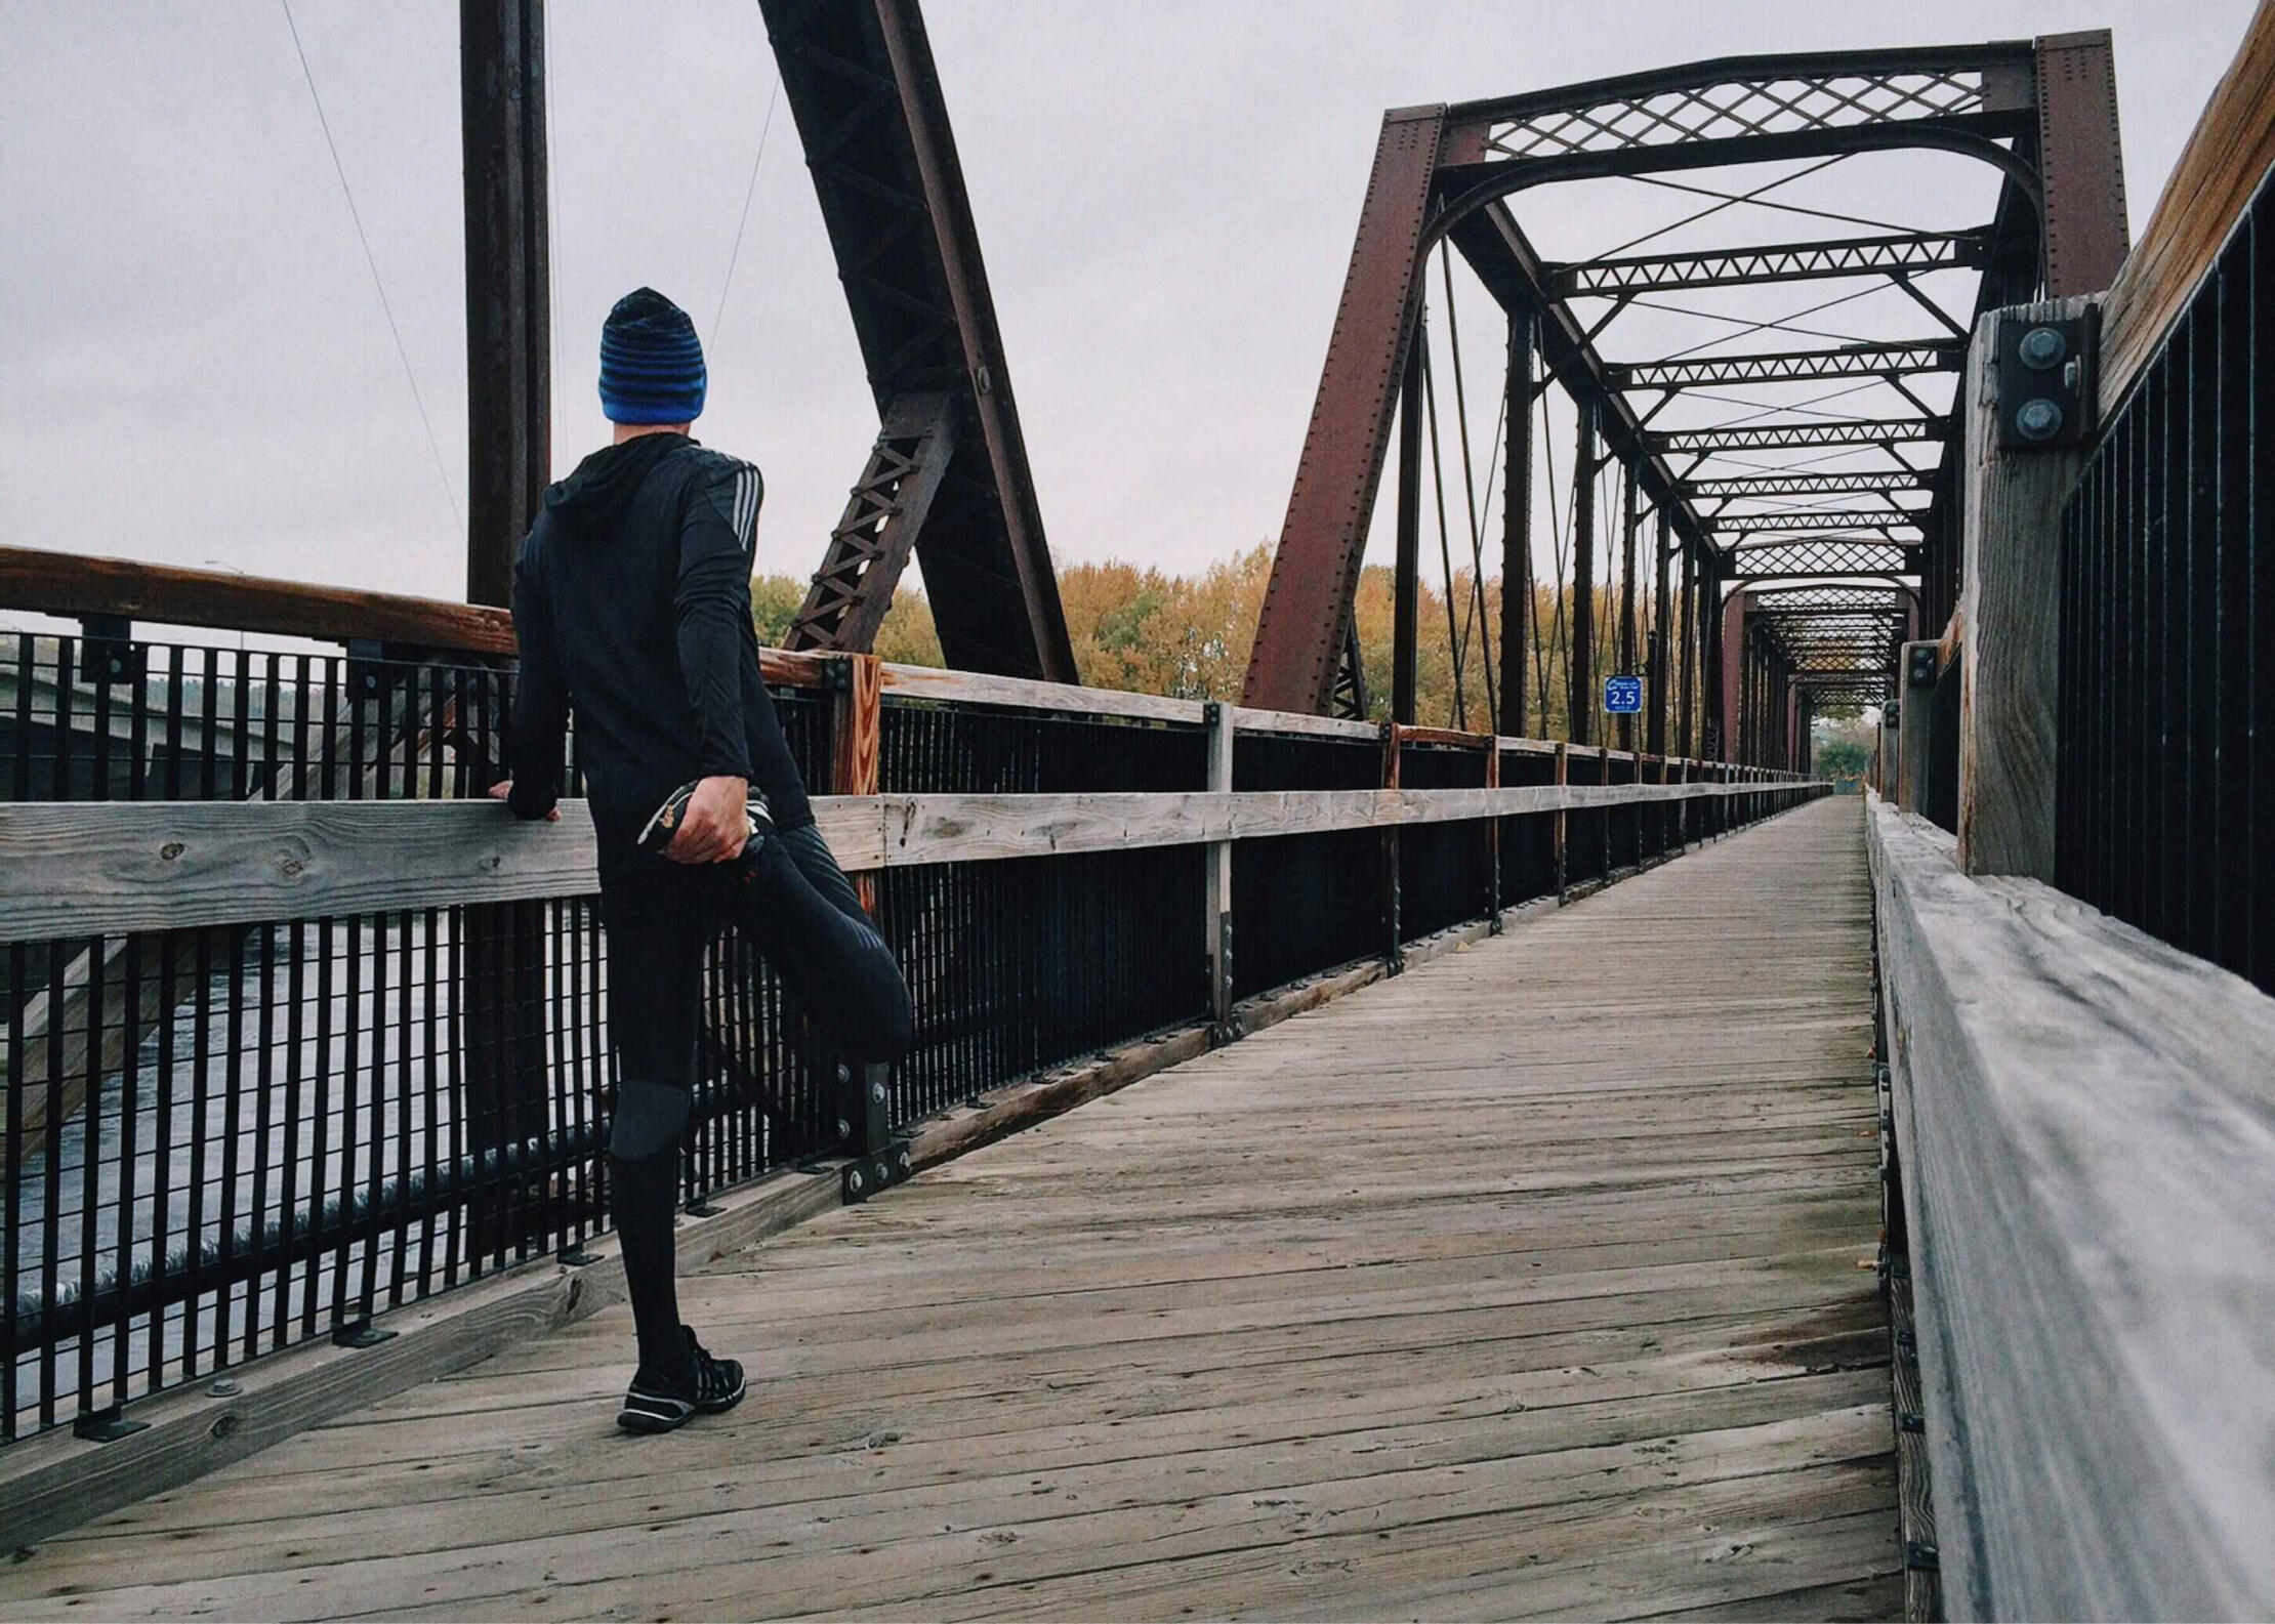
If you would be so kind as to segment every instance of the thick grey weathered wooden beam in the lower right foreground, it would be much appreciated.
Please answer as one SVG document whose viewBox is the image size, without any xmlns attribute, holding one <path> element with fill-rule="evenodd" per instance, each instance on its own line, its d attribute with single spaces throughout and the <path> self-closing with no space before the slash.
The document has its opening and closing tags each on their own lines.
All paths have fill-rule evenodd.
<svg viewBox="0 0 2275 1624">
<path fill-rule="evenodd" d="M 1952 1617 L 2275 1613 L 2275 999 L 1870 832 Z"/>
</svg>

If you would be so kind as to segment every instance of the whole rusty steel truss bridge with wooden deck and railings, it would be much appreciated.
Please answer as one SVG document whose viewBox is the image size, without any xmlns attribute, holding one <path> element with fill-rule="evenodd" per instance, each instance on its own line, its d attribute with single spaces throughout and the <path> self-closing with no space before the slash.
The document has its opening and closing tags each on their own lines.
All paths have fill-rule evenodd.
<svg viewBox="0 0 2275 1624">
<path fill-rule="evenodd" d="M 610 1433 L 462 0 L 469 600 L 0 548 L 0 1613 L 2275 1613 L 2275 5 L 2138 246 L 2104 32 L 1385 114 L 1242 703 L 1078 682 L 915 0 L 760 11 L 878 412 L 762 676 L 917 1035 L 708 948 L 753 1397 Z"/>
</svg>

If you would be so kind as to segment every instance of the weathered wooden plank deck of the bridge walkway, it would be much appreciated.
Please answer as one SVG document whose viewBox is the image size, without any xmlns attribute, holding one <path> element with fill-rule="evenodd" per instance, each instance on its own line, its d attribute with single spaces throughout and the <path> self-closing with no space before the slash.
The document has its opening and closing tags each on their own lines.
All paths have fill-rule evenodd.
<svg viewBox="0 0 2275 1624">
<path fill-rule="evenodd" d="M 0 1565 L 9 1617 L 1900 1610 L 1820 801 Z"/>
</svg>

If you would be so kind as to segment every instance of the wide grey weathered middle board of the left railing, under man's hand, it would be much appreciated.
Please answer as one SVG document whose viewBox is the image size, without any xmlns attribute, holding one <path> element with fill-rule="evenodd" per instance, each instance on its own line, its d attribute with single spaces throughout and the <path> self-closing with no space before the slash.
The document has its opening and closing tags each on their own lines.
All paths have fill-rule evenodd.
<svg viewBox="0 0 2275 1624">
<path fill-rule="evenodd" d="M 1720 785 L 1242 794 L 814 796 L 837 862 L 887 869 L 1392 828 Z M 494 801 L 84 801 L 0 805 L 0 942 L 580 896 L 592 812 L 521 823 Z"/>
</svg>

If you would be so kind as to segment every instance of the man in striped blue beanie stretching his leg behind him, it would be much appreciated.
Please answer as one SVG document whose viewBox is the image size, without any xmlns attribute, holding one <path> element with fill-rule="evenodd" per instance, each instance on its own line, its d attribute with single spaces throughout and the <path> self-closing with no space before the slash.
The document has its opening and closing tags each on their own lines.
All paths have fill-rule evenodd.
<svg viewBox="0 0 2275 1624">
<path fill-rule="evenodd" d="M 617 1424 L 632 1433 L 669 1433 L 744 1392 L 742 1365 L 680 1324 L 673 1285 L 710 939 L 735 923 L 844 1060 L 896 1060 L 910 1039 L 908 985 L 814 828 L 760 680 L 751 548 L 764 484 L 687 437 L 705 382 L 694 323 L 669 298 L 639 289 L 607 314 L 601 409 L 617 437 L 546 491 L 514 562 L 514 776 L 491 789 L 516 817 L 560 817 L 576 710 L 617 1053 L 610 1192 L 639 1333 Z M 644 846 L 689 782 L 669 844 Z"/>
</svg>

